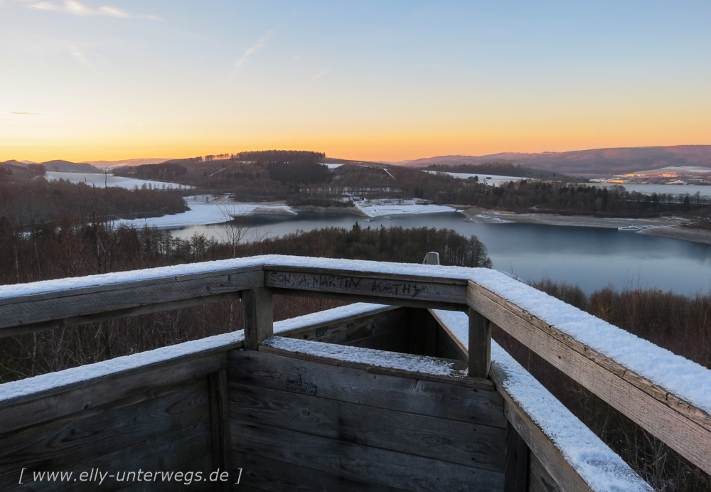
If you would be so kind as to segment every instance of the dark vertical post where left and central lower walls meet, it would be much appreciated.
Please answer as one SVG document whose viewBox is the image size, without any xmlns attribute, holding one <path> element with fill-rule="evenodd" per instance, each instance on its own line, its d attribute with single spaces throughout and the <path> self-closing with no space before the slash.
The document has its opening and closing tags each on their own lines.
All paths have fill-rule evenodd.
<svg viewBox="0 0 711 492">
<path fill-rule="evenodd" d="M 210 383 L 210 428 L 212 433 L 213 470 L 230 469 L 230 407 L 227 370 L 208 375 Z M 216 490 L 230 490 L 227 482 L 216 483 Z"/>
</svg>

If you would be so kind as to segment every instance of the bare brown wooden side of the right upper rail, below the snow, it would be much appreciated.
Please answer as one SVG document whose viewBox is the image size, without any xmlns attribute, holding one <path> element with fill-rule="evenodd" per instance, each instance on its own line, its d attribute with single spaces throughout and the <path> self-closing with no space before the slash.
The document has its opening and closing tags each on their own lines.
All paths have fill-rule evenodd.
<svg viewBox="0 0 711 492">
<path fill-rule="evenodd" d="M 711 474 L 706 412 L 474 282 L 468 299 L 487 319 Z"/>
</svg>

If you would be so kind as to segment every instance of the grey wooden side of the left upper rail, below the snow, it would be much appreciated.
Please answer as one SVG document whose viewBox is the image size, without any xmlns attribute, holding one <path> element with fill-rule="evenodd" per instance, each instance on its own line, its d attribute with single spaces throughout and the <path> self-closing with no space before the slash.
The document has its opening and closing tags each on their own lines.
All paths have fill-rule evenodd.
<svg viewBox="0 0 711 492">
<path fill-rule="evenodd" d="M 222 301 L 263 284 L 262 269 L 249 267 L 7 297 L 0 299 L 0 336 Z"/>
</svg>

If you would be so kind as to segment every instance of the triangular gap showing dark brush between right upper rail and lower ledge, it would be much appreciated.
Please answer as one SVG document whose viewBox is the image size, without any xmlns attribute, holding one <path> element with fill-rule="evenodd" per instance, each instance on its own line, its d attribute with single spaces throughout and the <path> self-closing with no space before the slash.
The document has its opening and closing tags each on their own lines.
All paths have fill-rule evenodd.
<svg viewBox="0 0 711 492">
<path fill-rule="evenodd" d="M 711 476 L 498 326 L 492 338 L 657 491 L 711 491 Z"/>
</svg>

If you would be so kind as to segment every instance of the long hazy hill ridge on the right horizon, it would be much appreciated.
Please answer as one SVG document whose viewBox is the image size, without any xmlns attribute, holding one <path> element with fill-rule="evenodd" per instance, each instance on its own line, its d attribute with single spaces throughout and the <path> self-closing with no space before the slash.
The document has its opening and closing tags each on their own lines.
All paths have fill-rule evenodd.
<svg viewBox="0 0 711 492">
<path fill-rule="evenodd" d="M 711 145 L 668 147 L 621 147 L 570 152 L 523 154 L 503 152 L 486 156 L 437 156 L 406 161 L 402 166 L 427 167 L 432 164 L 461 166 L 490 162 L 515 162 L 535 169 L 572 176 L 599 176 L 631 173 L 666 166 L 711 166 Z"/>
</svg>

